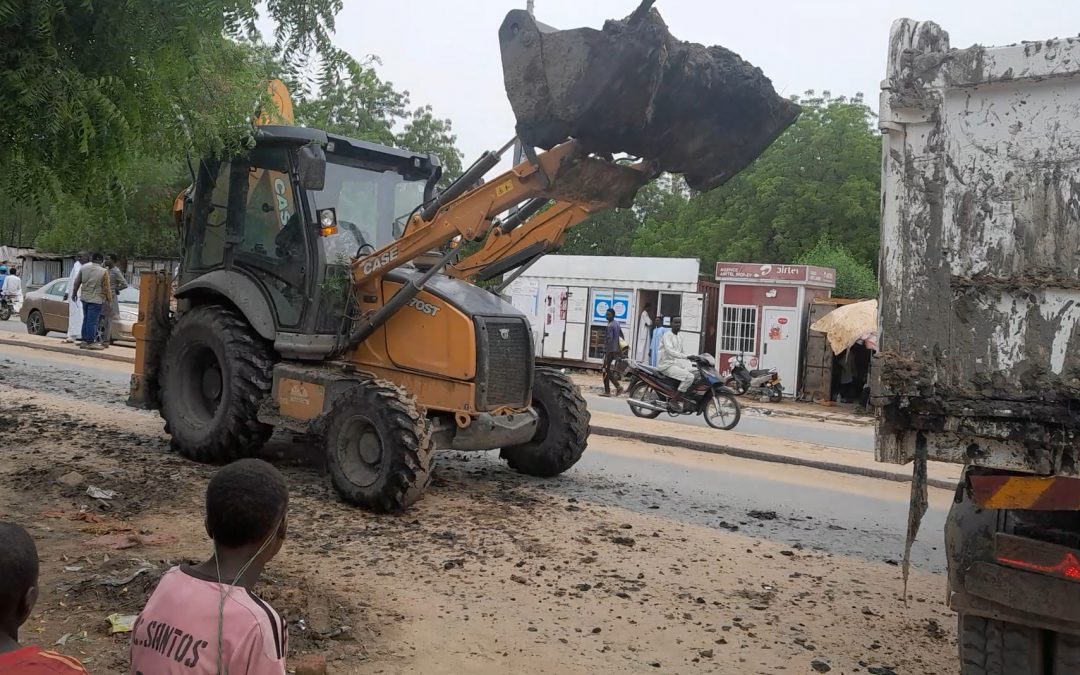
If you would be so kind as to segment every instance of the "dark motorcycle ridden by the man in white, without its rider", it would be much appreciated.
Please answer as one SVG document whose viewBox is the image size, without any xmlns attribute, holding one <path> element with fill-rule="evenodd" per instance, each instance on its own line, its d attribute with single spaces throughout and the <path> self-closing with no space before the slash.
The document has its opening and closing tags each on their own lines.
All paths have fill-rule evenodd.
<svg viewBox="0 0 1080 675">
<path fill-rule="evenodd" d="M 661 413 L 672 417 L 701 415 L 714 429 L 733 429 L 742 410 L 734 392 L 724 386 L 716 372 L 716 360 L 711 354 L 689 356 L 698 368 L 690 389 L 678 391 L 678 380 L 644 363 L 630 362 L 630 392 L 626 403 L 637 417 L 656 419 Z"/>
</svg>

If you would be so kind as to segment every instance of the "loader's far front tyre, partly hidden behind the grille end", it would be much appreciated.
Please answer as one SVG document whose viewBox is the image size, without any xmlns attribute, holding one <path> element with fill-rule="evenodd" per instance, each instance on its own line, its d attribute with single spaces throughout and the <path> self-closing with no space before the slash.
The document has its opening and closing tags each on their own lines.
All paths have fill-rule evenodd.
<svg viewBox="0 0 1080 675">
<path fill-rule="evenodd" d="M 530 476 L 555 476 L 581 459 L 589 444 L 589 409 L 569 377 L 552 368 L 537 368 L 532 407 L 540 416 L 532 440 L 502 448 L 512 469 Z"/>
</svg>

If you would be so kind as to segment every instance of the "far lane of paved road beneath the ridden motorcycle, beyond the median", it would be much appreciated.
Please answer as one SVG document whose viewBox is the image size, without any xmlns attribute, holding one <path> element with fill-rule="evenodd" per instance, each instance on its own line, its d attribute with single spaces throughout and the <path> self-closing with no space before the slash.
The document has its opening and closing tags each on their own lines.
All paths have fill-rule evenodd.
<svg viewBox="0 0 1080 675">
<path fill-rule="evenodd" d="M 605 399 L 586 394 L 589 407 L 593 410 L 604 413 L 616 413 L 618 415 L 633 415 L 626 399 Z M 740 399 L 741 401 L 741 399 Z M 661 416 L 666 421 L 674 421 L 683 424 L 693 424 L 705 427 L 705 420 L 697 415 L 683 415 L 679 417 Z M 842 447 L 852 450 L 874 451 L 874 431 L 869 428 L 849 427 L 846 424 L 832 424 L 811 420 L 785 418 L 780 416 L 765 416 L 748 410 L 743 410 L 742 419 L 735 428 L 743 433 L 753 433 L 773 438 L 784 438 L 787 441 L 802 441 L 806 443 L 818 443 L 832 447 Z M 717 438 L 723 438 L 723 431 L 717 431 Z"/>
</svg>

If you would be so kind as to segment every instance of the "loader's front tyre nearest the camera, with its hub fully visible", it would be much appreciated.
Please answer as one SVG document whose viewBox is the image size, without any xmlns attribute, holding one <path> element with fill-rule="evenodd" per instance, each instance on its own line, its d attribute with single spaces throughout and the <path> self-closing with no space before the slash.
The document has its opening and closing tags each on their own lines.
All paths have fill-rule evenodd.
<svg viewBox="0 0 1080 675">
<path fill-rule="evenodd" d="M 326 463 L 334 488 L 351 504 L 407 508 L 431 482 L 434 451 L 422 408 L 391 382 L 364 381 L 334 404 Z"/>
</svg>

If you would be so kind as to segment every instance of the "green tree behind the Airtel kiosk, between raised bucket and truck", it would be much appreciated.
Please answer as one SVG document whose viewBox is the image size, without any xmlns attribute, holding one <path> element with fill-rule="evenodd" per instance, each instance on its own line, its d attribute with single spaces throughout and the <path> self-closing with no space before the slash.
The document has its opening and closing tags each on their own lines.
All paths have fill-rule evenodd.
<svg viewBox="0 0 1080 675">
<path fill-rule="evenodd" d="M 808 92 L 802 113 L 745 171 L 638 231 L 638 255 L 703 261 L 795 260 L 827 234 L 858 260 L 877 259 L 881 145 L 854 98 Z"/>
</svg>

